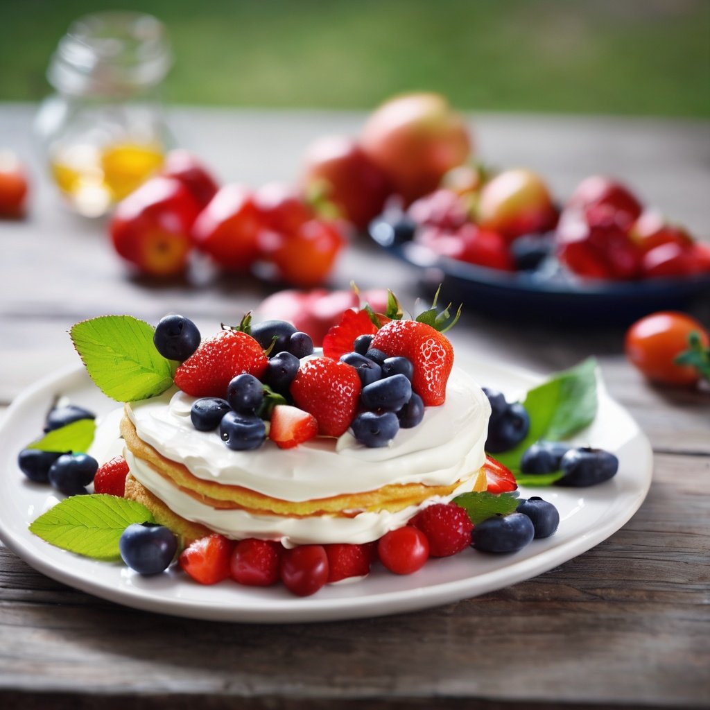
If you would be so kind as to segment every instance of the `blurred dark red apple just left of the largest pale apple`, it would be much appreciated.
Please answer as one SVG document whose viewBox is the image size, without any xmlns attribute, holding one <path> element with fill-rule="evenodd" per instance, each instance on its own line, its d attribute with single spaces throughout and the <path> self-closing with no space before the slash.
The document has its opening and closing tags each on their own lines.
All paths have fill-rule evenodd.
<svg viewBox="0 0 710 710">
<path fill-rule="evenodd" d="M 387 178 L 347 136 L 324 136 L 306 150 L 300 183 L 306 192 L 322 190 L 342 216 L 365 229 L 382 212 L 390 193 Z"/>
</svg>

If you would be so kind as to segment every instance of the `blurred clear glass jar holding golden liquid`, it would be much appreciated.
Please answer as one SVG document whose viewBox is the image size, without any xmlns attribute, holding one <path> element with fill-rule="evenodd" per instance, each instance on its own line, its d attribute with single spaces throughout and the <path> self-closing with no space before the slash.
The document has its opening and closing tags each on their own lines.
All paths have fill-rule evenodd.
<svg viewBox="0 0 710 710">
<path fill-rule="evenodd" d="M 158 89 L 172 63 L 163 24 L 141 13 L 87 15 L 60 40 L 35 127 L 80 214 L 105 214 L 162 165 L 172 141 Z"/>
</svg>

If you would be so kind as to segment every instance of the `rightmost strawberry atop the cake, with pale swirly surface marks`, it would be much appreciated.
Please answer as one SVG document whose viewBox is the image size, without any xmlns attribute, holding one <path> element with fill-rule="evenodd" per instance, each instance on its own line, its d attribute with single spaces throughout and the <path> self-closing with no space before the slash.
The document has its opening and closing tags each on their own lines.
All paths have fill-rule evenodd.
<svg viewBox="0 0 710 710">
<path fill-rule="evenodd" d="M 378 330 L 371 346 L 388 357 L 401 356 L 412 362 L 412 388 L 425 406 L 444 403 L 446 383 L 454 366 L 454 348 L 442 333 L 419 321 L 393 320 Z"/>
</svg>

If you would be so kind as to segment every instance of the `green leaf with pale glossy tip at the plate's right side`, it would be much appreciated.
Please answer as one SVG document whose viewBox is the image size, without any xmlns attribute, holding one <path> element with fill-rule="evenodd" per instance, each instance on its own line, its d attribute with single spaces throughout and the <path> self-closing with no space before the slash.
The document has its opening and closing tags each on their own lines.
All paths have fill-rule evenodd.
<svg viewBox="0 0 710 710">
<path fill-rule="evenodd" d="M 523 401 L 530 415 L 528 435 L 514 449 L 496 454 L 496 460 L 517 478 L 520 459 L 531 444 L 540 439 L 562 441 L 588 427 L 596 405 L 596 360 L 589 358 L 528 392 Z"/>
</svg>

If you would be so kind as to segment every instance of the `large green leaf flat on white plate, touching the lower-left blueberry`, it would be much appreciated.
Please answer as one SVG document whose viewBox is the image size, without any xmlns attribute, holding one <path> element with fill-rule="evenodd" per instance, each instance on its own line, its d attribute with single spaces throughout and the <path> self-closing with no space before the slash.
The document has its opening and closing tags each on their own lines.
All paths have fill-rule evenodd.
<svg viewBox="0 0 710 710">
<path fill-rule="evenodd" d="M 119 538 L 131 523 L 154 523 L 151 511 L 126 498 L 72 496 L 40 515 L 30 532 L 50 545 L 94 559 L 119 559 Z"/>
</svg>

